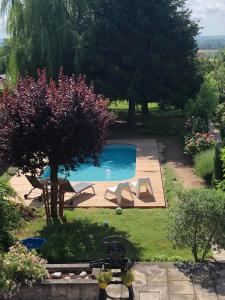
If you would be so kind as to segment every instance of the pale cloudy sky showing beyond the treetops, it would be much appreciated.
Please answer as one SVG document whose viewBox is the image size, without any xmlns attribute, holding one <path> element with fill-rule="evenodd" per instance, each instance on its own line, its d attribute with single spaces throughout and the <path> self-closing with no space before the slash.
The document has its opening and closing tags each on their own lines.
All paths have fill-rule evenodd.
<svg viewBox="0 0 225 300">
<path fill-rule="evenodd" d="M 187 0 L 187 7 L 203 27 L 201 35 L 225 35 L 225 0 Z M 0 17 L 0 38 L 5 36 L 5 18 Z"/>
</svg>

